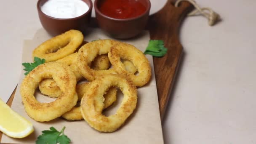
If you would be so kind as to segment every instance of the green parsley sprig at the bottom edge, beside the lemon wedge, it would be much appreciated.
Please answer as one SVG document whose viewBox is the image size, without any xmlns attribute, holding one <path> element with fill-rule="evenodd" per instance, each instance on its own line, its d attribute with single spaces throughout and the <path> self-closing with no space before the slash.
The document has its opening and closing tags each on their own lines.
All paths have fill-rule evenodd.
<svg viewBox="0 0 256 144">
<path fill-rule="evenodd" d="M 63 127 L 60 132 L 53 127 L 50 131 L 42 131 L 43 134 L 37 137 L 36 144 L 69 144 L 71 140 L 64 135 L 65 128 Z"/>
</svg>

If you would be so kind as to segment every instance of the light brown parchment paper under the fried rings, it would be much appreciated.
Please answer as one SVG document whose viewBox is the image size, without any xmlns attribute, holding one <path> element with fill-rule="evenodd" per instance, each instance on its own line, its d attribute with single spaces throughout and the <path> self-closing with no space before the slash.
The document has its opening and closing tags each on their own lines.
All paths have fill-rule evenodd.
<svg viewBox="0 0 256 144">
<path fill-rule="evenodd" d="M 44 29 L 39 29 L 33 40 L 25 40 L 22 62 L 32 62 L 33 49 L 45 40 L 51 38 Z M 109 39 L 107 35 L 101 32 L 100 29 L 88 29 L 85 35 L 85 40 L 90 42 L 98 39 Z M 122 40 L 130 43 L 141 51 L 144 51 L 149 41 L 149 32 L 144 31 L 138 37 L 132 40 Z M 91 128 L 85 120 L 67 121 L 63 118 L 57 118 L 50 122 L 36 122 L 30 118 L 24 110 L 20 95 L 20 83 L 24 78 L 24 71 L 21 73 L 16 94 L 13 99 L 11 108 L 33 123 L 35 131 L 24 139 L 13 139 L 3 134 L 3 143 L 19 143 L 19 144 L 34 144 L 37 136 L 41 135 L 41 131 L 49 129 L 51 126 L 57 130 L 61 130 L 64 126 L 64 133 L 71 139 L 73 144 L 163 144 L 163 134 L 157 99 L 157 88 L 155 82 L 154 66 L 152 56 L 147 58 L 152 67 L 152 79 L 149 84 L 142 88 L 138 88 L 138 103 L 133 114 L 128 117 L 125 124 L 113 133 L 101 133 Z M 53 101 L 47 96 L 36 94 L 36 98 L 41 102 Z M 117 101 L 110 107 L 105 115 L 114 114 L 122 101 L 122 93 L 118 93 Z"/>
</svg>

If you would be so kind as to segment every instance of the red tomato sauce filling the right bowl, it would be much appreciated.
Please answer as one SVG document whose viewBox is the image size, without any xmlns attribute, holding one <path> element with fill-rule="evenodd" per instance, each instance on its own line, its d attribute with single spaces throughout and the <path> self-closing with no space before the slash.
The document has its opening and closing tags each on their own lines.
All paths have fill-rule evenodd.
<svg viewBox="0 0 256 144">
<path fill-rule="evenodd" d="M 102 0 L 99 11 L 115 19 L 128 19 L 143 14 L 146 6 L 139 0 Z"/>
</svg>

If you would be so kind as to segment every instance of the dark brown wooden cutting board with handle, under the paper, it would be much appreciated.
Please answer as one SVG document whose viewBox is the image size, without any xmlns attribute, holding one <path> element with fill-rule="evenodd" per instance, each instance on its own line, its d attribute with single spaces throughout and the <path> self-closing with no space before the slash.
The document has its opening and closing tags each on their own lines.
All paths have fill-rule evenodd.
<svg viewBox="0 0 256 144">
<path fill-rule="evenodd" d="M 179 42 L 179 27 L 187 13 L 192 9 L 193 6 L 187 2 L 181 2 L 179 7 L 174 7 L 174 0 L 168 0 L 160 11 L 149 17 L 146 27 L 150 31 L 150 38 L 152 40 L 164 40 L 165 47 L 168 48 L 168 52 L 164 57 L 154 57 L 157 94 L 162 120 L 182 56 L 182 45 Z M 92 19 L 91 26 L 97 27 L 95 19 Z M 9 106 L 12 104 L 15 92 L 16 88 L 7 102 Z M 2 133 L 0 132 L 0 141 L 1 137 Z"/>
</svg>

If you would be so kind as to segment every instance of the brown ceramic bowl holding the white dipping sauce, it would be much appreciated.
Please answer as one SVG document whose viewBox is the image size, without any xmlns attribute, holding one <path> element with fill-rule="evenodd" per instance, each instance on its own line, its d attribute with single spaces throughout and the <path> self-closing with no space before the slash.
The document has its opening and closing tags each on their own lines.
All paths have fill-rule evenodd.
<svg viewBox="0 0 256 144">
<path fill-rule="evenodd" d="M 47 0 L 38 0 L 37 2 L 37 11 L 39 19 L 43 28 L 52 36 L 59 35 L 63 32 L 66 32 L 70 29 L 77 29 L 81 32 L 85 32 L 85 29 L 88 27 L 88 24 L 91 19 L 91 11 L 93 4 L 91 0 L 83 0 L 89 7 L 89 10 L 81 16 L 70 18 L 70 19 L 59 19 L 46 15 L 41 11 L 41 6 Z"/>
</svg>

